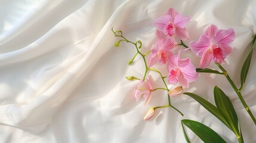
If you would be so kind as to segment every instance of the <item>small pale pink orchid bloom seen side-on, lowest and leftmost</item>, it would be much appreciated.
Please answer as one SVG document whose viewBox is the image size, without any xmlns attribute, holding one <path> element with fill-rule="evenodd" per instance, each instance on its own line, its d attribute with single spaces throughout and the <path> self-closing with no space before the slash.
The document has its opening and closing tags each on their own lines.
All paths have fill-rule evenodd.
<svg viewBox="0 0 256 143">
<path fill-rule="evenodd" d="M 151 99 L 151 92 L 152 92 L 152 80 L 151 76 L 148 76 L 146 81 L 143 79 L 140 80 L 137 86 L 133 91 L 133 95 L 136 98 L 136 101 L 140 100 L 140 97 L 143 96 L 145 98 L 144 105 L 147 105 Z"/>
</svg>

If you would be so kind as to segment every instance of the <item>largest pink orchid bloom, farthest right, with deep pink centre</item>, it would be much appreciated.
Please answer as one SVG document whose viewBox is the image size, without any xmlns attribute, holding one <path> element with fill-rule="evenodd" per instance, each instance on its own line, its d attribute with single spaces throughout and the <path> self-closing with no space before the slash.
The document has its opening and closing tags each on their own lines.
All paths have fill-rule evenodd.
<svg viewBox="0 0 256 143">
<path fill-rule="evenodd" d="M 198 41 L 190 42 L 189 46 L 198 57 L 202 57 L 200 67 L 203 69 L 209 66 L 212 60 L 221 64 L 232 51 L 229 44 L 234 39 L 235 32 L 233 29 L 218 30 L 218 27 L 212 24 Z"/>
</svg>

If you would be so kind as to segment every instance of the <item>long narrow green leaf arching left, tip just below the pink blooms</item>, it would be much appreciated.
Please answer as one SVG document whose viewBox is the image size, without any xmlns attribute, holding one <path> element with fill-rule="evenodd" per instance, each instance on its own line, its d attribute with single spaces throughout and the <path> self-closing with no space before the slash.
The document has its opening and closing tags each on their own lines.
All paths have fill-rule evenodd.
<svg viewBox="0 0 256 143">
<path fill-rule="evenodd" d="M 230 128 L 229 123 L 227 123 L 226 119 L 224 119 L 224 117 L 222 116 L 222 114 L 220 113 L 220 111 L 218 110 L 217 107 L 215 107 L 215 105 L 212 105 L 211 102 L 206 101 L 205 99 L 203 99 L 202 97 L 199 97 L 196 94 L 192 94 L 190 92 L 185 92 L 183 93 L 185 95 L 188 95 L 189 97 L 194 98 L 194 100 L 198 101 L 199 104 L 201 104 L 203 107 L 206 108 L 206 110 L 208 110 L 210 113 L 212 113 L 215 117 L 217 117 L 221 122 L 223 122 L 229 129 L 232 130 L 232 128 Z"/>
</svg>

